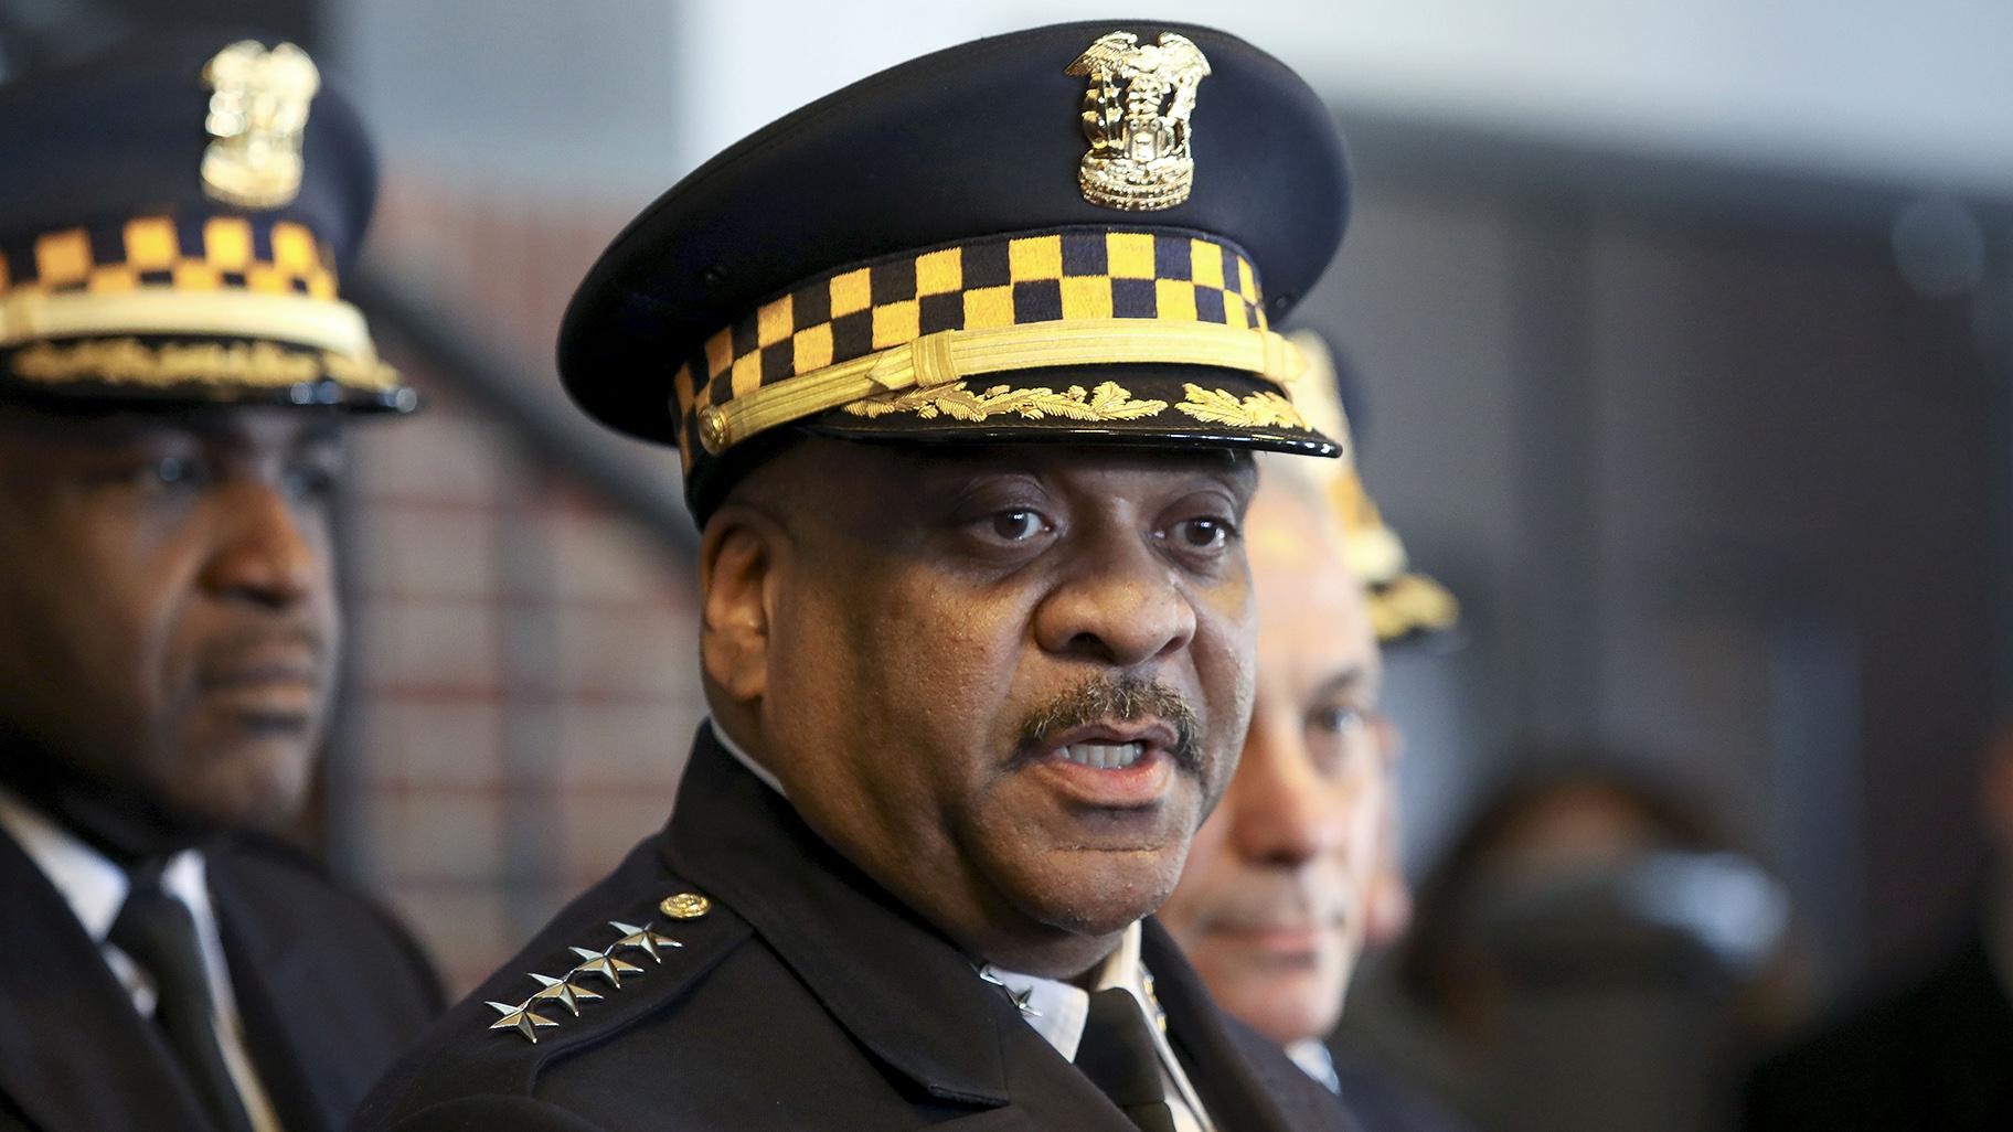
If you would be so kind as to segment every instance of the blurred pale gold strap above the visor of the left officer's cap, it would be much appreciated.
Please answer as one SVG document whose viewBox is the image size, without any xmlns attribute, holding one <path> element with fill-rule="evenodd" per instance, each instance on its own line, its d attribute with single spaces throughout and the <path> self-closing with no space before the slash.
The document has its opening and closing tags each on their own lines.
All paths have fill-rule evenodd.
<svg viewBox="0 0 2013 1132">
<path fill-rule="evenodd" d="M 358 365 L 376 363 L 360 310 L 334 298 L 246 290 L 129 290 L 0 298 L 0 348 L 46 338 L 115 334 L 217 334 L 314 346 Z"/>
</svg>

